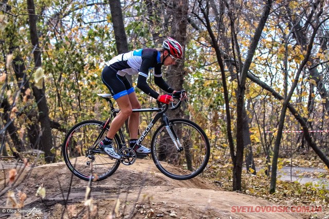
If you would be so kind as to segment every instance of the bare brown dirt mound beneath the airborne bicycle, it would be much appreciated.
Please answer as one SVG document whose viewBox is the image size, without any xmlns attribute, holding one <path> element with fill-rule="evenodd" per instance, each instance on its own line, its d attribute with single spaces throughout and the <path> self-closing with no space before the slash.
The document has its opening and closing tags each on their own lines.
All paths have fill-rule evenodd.
<svg viewBox="0 0 329 219">
<path fill-rule="evenodd" d="M 8 182 L 8 169 L 5 168 Z M 3 174 L 3 178 L 4 175 Z M 3 179 L 2 178 L 2 179 Z M 0 187 L 4 188 L 4 180 Z M 84 207 L 88 182 L 72 176 L 65 163 L 54 163 L 26 168 L 13 190 L 27 194 L 25 209 L 36 208 L 44 218 L 61 218 L 67 200 L 70 212 L 79 214 Z M 43 186 L 46 196 L 35 196 Z M 7 188 L 7 187 L 6 187 Z M 235 192 L 221 191 L 209 181 L 195 177 L 188 181 L 176 181 L 160 173 L 152 160 L 137 160 L 132 166 L 120 165 L 115 174 L 91 185 L 91 196 L 97 206 L 96 218 L 107 218 L 116 212 L 119 218 L 298 218 L 288 213 L 237 213 L 232 206 L 273 206 L 272 203 Z M 4 190 L 3 190 L 4 191 Z M 17 198 L 17 197 L 16 197 Z M 119 204 L 116 205 L 116 203 Z M 6 207 L 7 193 L 0 197 L 0 208 Z M 117 206 L 117 207 L 116 207 Z M 69 218 L 66 212 L 64 218 Z M 87 213 L 87 210 L 83 211 Z M 24 218 L 35 218 L 33 213 Z M 80 214 L 82 217 L 83 213 Z M 5 213 L 0 217 L 16 218 Z M 1 217 L 2 218 L 2 217 Z M 118 217 L 116 217 L 118 218 Z"/>
</svg>

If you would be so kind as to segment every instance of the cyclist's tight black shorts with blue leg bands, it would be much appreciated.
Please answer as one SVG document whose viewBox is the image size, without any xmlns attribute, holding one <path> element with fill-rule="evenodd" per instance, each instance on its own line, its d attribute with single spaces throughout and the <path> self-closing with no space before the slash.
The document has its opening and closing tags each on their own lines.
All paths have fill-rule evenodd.
<svg viewBox="0 0 329 219">
<path fill-rule="evenodd" d="M 106 66 L 102 71 L 102 81 L 113 95 L 114 99 L 135 92 L 125 76 L 117 74 L 117 71 Z"/>
</svg>

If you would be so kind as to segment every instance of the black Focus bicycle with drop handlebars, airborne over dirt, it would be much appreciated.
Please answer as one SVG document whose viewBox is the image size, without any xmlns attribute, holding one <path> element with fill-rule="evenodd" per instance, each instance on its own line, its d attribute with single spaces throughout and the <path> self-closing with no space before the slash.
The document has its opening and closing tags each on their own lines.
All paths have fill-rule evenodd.
<svg viewBox="0 0 329 219">
<path fill-rule="evenodd" d="M 136 158 L 144 158 L 147 154 L 136 154 L 126 146 L 121 129 L 113 138 L 113 147 L 121 156 L 120 160 L 109 157 L 98 143 L 106 135 L 109 124 L 119 109 L 115 109 L 111 94 L 97 94 L 104 98 L 111 107 L 111 116 L 105 121 L 87 120 L 78 123 L 66 134 L 63 144 L 63 157 L 68 169 L 82 180 L 101 181 L 111 176 L 120 163 L 132 165 Z M 180 107 L 182 95 L 177 104 L 163 105 L 157 101 L 158 107 L 133 109 L 134 112 L 157 112 L 148 127 L 142 132 L 136 144 L 140 144 L 145 136 L 160 120 L 162 124 L 156 129 L 151 141 L 151 155 L 156 167 L 166 176 L 174 180 L 189 180 L 201 173 L 210 157 L 210 145 L 204 130 L 197 124 L 184 118 L 169 120 L 168 109 Z"/>
</svg>

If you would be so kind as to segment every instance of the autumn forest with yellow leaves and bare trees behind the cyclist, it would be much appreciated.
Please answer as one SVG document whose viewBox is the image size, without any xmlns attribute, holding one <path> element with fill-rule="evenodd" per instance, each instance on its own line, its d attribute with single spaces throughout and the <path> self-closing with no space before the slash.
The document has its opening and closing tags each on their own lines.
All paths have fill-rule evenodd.
<svg viewBox="0 0 329 219">
<path fill-rule="evenodd" d="M 63 161 L 68 129 L 108 116 L 97 96 L 108 92 L 100 77 L 106 61 L 161 47 L 171 36 L 184 45 L 185 59 L 164 69 L 164 77 L 189 96 L 189 104 L 171 116 L 188 117 L 206 131 L 212 157 L 205 177 L 257 194 L 244 180 L 246 166 L 266 179 L 264 191 L 273 194 L 281 158 L 329 167 L 327 1 L 0 4 L 3 156 L 39 149 L 44 162 Z M 136 85 L 136 77 L 129 79 Z M 153 85 L 152 74 L 148 82 Z M 154 106 L 136 92 L 142 106 Z M 141 115 L 141 127 L 150 117 Z M 288 185 L 280 186 L 293 195 Z M 314 202 L 328 203 L 326 189 L 298 188 L 300 197 L 312 194 Z"/>
</svg>

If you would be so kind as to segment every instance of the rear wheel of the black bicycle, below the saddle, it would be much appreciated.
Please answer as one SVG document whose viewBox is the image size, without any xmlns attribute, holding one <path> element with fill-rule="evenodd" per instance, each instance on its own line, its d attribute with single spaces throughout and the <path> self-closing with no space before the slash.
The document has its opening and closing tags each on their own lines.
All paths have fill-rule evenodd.
<svg viewBox="0 0 329 219">
<path fill-rule="evenodd" d="M 62 152 L 66 166 L 76 176 L 85 181 L 101 181 L 111 176 L 119 167 L 120 161 L 109 157 L 106 153 L 94 153 L 95 160 L 86 156 L 87 149 L 97 145 L 105 137 L 109 127 L 106 127 L 102 136 L 103 123 L 96 120 L 87 120 L 78 123 L 66 134 Z M 97 142 L 96 142 L 97 141 Z M 94 144 L 95 143 L 95 144 Z M 116 134 L 113 147 L 118 151 L 121 141 Z"/>
</svg>

